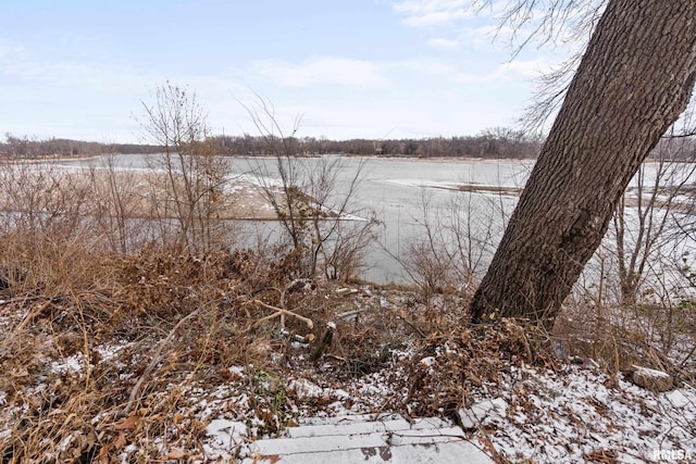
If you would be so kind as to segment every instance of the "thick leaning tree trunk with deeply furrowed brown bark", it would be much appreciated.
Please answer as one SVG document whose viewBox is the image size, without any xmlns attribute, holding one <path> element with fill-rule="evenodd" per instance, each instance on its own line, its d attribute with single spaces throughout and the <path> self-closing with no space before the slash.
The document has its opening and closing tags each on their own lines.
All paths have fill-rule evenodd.
<svg viewBox="0 0 696 464">
<path fill-rule="evenodd" d="M 609 0 L 474 294 L 472 322 L 552 325 L 695 76 L 696 2 Z"/>
</svg>

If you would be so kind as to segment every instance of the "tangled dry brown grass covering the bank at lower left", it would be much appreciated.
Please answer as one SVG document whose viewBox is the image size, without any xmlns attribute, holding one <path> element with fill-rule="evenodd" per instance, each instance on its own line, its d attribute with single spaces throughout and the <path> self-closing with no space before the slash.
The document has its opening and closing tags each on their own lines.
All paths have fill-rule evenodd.
<svg viewBox="0 0 696 464">
<path fill-rule="evenodd" d="M 3 249 L 2 262 L 21 269 L 0 294 L 0 390 L 18 406 L 4 417 L 3 462 L 91 462 L 124 446 L 126 429 L 147 448 L 175 419 L 175 394 L 153 404 L 157 392 L 270 363 L 259 349 L 268 333 L 246 330 L 262 315 L 245 304 L 250 255 L 99 256 L 48 240 Z M 124 419 L 137 422 L 137 439 Z"/>
</svg>

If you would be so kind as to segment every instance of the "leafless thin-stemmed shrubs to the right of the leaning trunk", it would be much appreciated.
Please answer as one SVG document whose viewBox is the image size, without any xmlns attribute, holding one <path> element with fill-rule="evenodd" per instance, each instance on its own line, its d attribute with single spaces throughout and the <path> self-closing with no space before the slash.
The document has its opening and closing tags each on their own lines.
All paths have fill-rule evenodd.
<svg viewBox="0 0 696 464">
<path fill-rule="evenodd" d="M 695 287 L 683 235 L 696 172 L 691 143 L 666 138 L 641 167 L 557 326 L 571 349 L 613 372 L 648 363 L 680 378 L 696 375 Z"/>
</svg>

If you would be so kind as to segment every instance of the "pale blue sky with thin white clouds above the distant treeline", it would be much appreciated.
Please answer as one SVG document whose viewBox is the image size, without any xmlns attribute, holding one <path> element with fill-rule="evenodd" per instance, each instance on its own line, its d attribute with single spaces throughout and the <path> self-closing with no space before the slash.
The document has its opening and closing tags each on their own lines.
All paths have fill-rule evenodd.
<svg viewBox="0 0 696 464">
<path fill-rule="evenodd" d="M 512 125 L 559 51 L 511 60 L 465 0 L 4 0 L 0 134 L 140 141 L 141 100 L 188 86 L 213 133 L 256 135 L 254 92 L 299 136 Z M 135 116 L 135 117 L 134 117 Z M 1 138 L 1 137 L 0 137 Z"/>
</svg>

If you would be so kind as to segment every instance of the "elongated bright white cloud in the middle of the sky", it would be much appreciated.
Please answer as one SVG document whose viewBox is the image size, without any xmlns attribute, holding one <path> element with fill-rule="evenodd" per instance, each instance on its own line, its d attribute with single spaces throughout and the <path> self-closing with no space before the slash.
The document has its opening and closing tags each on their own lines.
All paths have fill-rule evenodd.
<svg viewBox="0 0 696 464">
<path fill-rule="evenodd" d="M 388 79 L 376 63 L 362 60 L 319 57 L 294 64 L 282 60 L 264 60 L 253 67 L 273 80 L 293 87 L 337 85 L 347 87 L 383 87 Z"/>
</svg>

